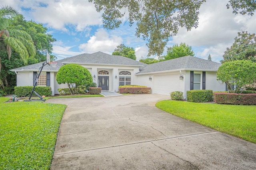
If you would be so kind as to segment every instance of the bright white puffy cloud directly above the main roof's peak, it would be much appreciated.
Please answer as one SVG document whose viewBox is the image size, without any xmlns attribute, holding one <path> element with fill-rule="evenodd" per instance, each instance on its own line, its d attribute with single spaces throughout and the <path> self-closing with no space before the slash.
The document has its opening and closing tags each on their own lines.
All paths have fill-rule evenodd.
<svg viewBox="0 0 256 170">
<path fill-rule="evenodd" d="M 90 37 L 87 43 L 79 45 L 79 49 L 86 53 L 102 51 L 112 54 L 117 45 L 122 43 L 122 38 L 115 35 L 109 35 L 104 29 L 98 29 L 94 36 Z"/>
</svg>

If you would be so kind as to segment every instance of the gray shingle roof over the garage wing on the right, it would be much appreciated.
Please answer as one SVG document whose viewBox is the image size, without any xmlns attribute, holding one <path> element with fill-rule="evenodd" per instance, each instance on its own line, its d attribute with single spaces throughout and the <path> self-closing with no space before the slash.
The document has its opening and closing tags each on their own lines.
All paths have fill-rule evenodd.
<svg viewBox="0 0 256 170">
<path fill-rule="evenodd" d="M 179 57 L 176 59 L 146 65 L 146 67 L 143 67 L 138 74 L 175 69 L 217 71 L 220 65 L 220 63 L 188 55 L 185 57 Z"/>
</svg>

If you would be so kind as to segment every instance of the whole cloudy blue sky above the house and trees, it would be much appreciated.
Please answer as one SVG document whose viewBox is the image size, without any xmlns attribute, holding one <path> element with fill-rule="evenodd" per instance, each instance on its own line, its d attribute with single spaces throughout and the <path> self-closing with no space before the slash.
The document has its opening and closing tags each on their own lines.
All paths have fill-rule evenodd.
<svg viewBox="0 0 256 170">
<path fill-rule="evenodd" d="M 168 47 L 183 42 L 192 46 L 196 57 L 207 59 L 210 54 L 212 61 L 220 62 L 238 32 L 256 33 L 256 14 L 234 15 L 232 9 L 226 9 L 227 2 L 207 0 L 199 10 L 198 28 L 190 32 L 181 28 L 177 36 L 170 38 Z M 57 39 L 52 54 L 58 59 L 97 51 L 112 54 L 120 43 L 134 47 L 137 60 L 148 54 L 146 42 L 134 36 L 135 26 L 129 27 L 127 22 L 115 30 L 104 29 L 101 14 L 88 0 L 0 0 L 0 6 L 6 5 L 16 8 L 25 20 L 48 28 Z"/>
</svg>

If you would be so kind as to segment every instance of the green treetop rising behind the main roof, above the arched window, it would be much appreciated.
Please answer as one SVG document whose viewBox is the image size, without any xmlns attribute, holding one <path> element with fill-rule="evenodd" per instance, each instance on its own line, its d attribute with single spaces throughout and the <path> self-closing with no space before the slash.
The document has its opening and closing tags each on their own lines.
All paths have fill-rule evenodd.
<svg viewBox="0 0 256 170">
<path fill-rule="evenodd" d="M 127 47 L 124 44 L 116 46 L 112 55 L 122 55 L 124 57 L 136 60 L 135 50 L 133 47 Z"/>
</svg>

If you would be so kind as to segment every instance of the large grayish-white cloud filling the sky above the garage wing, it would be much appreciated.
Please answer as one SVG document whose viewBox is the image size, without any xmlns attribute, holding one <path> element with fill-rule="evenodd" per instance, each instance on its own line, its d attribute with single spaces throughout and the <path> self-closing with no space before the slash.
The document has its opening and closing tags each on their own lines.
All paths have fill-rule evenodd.
<svg viewBox="0 0 256 170">
<path fill-rule="evenodd" d="M 231 9 L 226 9 L 227 3 L 227 0 L 206 1 L 199 10 L 198 28 L 188 32 L 181 28 L 173 43 L 186 43 L 196 49 L 196 57 L 207 59 L 210 54 L 213 61 L 219 62 L 238 32 L 256 32 L 256 16 L 234 15 Z"/>
</svg>

